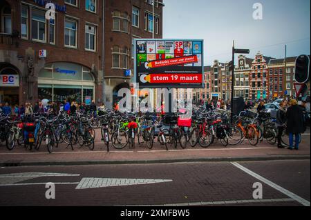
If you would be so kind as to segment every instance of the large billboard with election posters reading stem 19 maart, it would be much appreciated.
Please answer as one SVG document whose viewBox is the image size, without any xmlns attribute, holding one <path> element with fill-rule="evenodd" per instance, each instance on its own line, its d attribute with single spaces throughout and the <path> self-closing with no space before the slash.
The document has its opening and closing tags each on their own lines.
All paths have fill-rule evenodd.
<svg viewBox="0 0 311 220">
<path fill-rule="evenodd" d="M 135 39 L 135 82 L 140 88 L 203 88 L 203 40 Z"/>
</svg>

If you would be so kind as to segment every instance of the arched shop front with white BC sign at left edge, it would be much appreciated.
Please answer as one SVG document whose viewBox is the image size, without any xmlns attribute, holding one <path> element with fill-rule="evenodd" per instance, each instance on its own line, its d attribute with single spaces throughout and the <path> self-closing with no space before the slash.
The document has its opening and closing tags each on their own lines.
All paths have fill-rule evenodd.
<svg viewBox="0 0 311 220">
<path fill-rule="evenodd" d="M 19 104 L 19 72 L 9 63 L 0 65 L 0 103 Z"/>
</svg>

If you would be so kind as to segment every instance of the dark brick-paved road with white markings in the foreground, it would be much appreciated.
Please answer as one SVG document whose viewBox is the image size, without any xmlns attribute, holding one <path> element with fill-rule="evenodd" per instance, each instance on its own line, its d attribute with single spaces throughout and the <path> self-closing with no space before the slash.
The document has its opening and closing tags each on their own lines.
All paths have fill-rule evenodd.
<svg viewBox="0 0 311 220">
<path fill-rule="evenodd" d="M 0 195 L 0 206 L 310 206 L 310 160 L 0 168 Z"/>
</svg>

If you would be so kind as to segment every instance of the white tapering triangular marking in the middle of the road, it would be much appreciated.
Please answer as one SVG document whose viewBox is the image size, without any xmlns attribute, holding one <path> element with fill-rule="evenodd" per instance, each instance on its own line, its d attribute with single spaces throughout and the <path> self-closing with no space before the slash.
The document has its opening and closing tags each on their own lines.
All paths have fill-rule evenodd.
<svg viewBox="0 0 311 220">
<path fill-rule="evenodd" d="M 131 186 L 153 183 L 167 183 L 171 182 L 171 179 L 115 179 L 115 178 L 83 178 L 76 190 L 90 189 L 90 188 L 104 188 L 113 186 Z"/>
</svg>

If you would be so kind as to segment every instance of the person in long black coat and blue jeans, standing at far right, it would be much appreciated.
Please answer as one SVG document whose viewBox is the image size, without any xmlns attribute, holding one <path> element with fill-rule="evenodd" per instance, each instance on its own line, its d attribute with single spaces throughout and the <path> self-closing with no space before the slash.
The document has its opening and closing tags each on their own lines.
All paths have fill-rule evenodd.
<svg viewBox="0 0 311 220">
<path fill-rule="evenodd" d="M 290 136 L 290 150 L 293 150 L 294 135 L 295 135 L 295 146 L 296 150 L 299 150 L 299 141 L 301 133 L 305 132 L 303 123 L 303 111 L 298 106 L 296 99 L 290 100 L 290 107 L 286 112 L 286 119 L 288 120 L 286 130 Z"/>
</svg>

